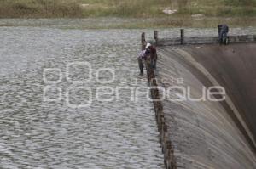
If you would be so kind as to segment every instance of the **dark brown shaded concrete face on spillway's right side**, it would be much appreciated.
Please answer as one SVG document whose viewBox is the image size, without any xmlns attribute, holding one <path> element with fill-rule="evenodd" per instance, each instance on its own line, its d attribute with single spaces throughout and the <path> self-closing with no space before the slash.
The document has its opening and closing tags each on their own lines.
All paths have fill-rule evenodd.
<svg viewBox="0 0 256 169">
<path fill-rule="evenodd" d="M 248 43 L 187 48 L 189 54 L 192 54 L 195 60 L 203 65 L 221 86 L 225 87 L 230 99 L 252 132 L 254 140 L 256 138 L 255 47 L 255 43 Z"/>
</svg>

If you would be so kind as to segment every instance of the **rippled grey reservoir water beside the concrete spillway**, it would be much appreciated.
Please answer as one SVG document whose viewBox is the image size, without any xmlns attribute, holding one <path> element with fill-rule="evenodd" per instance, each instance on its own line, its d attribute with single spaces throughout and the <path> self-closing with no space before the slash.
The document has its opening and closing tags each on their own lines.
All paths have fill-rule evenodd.
<svg viewBox="0 0 256 169">
<path fill-rule="evenodd" d="M 137 76 L 137 53 L 140 33 L 152 37 L 153 30 L 62 29 L 84 22 L 0 20 L 0 168 L 164 168 L 151 102 L 144 95 L 132 100 L 129 90 L 96 99 L 103 86 L 147 87 Z M 84 62 L 90 82 L 71 82 L 89 77 Z M 112 82 L 96 81 L 112 80 L 102 68 L 113 70 Z M 68 105 L 87 103 L 85 87 L 91 105 Z"/>
</svg>

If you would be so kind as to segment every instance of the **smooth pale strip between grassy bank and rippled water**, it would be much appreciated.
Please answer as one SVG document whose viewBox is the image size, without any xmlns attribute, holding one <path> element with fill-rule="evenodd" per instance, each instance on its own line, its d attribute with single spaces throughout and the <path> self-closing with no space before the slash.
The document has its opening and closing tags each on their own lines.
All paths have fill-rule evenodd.
<svg viewBox="0 0 256 169">
<path fill-rule="evenodd" d="M 205 18 L 120 18 L 90 17 L 84 19 L 51 18 L 51 19 L 0 19 L 1 26 L 49 26 L 62 29 L 156 29 L 156 28 L 216 28 L 226 23 L 233 28 L 256 27 L 255 17 L 205 17 Z"/>
</svg>

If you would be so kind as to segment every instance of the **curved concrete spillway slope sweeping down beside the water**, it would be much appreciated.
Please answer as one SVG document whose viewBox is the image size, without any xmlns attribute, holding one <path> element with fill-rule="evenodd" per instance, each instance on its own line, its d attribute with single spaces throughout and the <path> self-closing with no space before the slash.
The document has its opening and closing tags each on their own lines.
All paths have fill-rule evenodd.
<svg viewBox="0 0 256 169">
<path fill-rule="evenodd" d="M 161 102 L 177 168 L 256 168 L 256 43 L 157 50 L 160 87 L 182 86 L 193 99 L 201 98 L 203 87 L 226 92 L 219 102 Z M 183 91 L 171 95 L 178 98 Z"/>
</svg>

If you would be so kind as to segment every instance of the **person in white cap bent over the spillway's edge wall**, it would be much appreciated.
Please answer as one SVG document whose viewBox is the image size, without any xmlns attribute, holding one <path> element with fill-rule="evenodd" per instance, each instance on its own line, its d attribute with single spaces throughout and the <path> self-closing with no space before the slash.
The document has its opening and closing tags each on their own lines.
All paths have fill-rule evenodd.
<svg viewBox="0 0 256 169">
<path fill-rule="evenodd" d="M 156 70 L 157 53 L 154 46 L 147 43 L 146 48 L 138 55 L 138 65 L 140 69 L 140 75 L 143 75 L 144 64 L 146 59 L 150 59 L 150 66 Z"/>
</svg>

